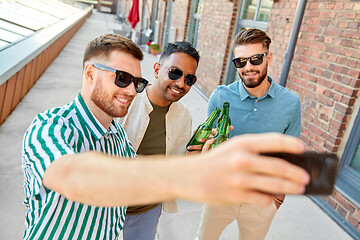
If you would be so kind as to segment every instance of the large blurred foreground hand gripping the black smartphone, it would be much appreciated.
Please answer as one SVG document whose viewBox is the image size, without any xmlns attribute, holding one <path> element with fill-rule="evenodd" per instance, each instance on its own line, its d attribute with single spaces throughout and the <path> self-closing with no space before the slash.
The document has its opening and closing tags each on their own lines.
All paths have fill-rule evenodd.
<svg viewBox="0 0 360 240">
<path fill-rule="evenodd" d="M 212 205 L 267 205 L 274 194 L 302 194 L 310 177 L 289 162 L 262 152 L 302 153 L 304 145 L 278 133 L 234 137 L 191 161 L 185 179 L 189 200 Z M 190 181 L 190 182 L 186 182 Z"/>
</svg>

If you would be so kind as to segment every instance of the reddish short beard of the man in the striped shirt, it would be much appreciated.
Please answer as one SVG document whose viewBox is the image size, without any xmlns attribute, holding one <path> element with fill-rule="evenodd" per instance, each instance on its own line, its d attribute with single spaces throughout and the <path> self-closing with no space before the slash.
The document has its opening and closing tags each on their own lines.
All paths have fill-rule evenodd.
<svg viewBox="0 0 360 240">
<path fill-rule="evenodd" d="M 95 90 L 91 93 L 90 99 L 98 108 L 100 108 L 103 112 L 113 118 L 123 117 L 127 113 L 126 111 L 125 114 L 122 114 L 122 111 L 120 111 L 111 104 L 112 99 L 109 99 L 109 97 L 106 95 L 100 81 L 96 82 Z"/>
</svg>

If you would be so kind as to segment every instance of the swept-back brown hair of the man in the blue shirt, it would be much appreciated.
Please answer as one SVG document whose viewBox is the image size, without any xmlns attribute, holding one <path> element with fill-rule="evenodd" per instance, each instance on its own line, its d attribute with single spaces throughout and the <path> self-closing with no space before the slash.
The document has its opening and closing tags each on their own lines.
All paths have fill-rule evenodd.
<svg viewBox="0 0 360 240">
<path fill-rule="evenodd" d="M 240 31 L 234 37 L 231 47 L 234 50 L 239 45 L 262 43 L 269 50 L 271 39 L 266 32 L 256 28 L 246 28 Z"/>
</svg>

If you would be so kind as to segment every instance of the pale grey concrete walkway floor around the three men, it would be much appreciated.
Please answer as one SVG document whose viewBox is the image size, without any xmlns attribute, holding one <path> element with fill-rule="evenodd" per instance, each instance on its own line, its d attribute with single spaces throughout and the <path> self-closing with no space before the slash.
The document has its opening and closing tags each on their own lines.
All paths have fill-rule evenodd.
<svg viewBox="0 0 360 240">
<path fill-rule="evenodd" d="M 21 141 L 34 116 L 54 106 L 73 100 L 81 88 L 82 55 L 93 38 L 122 26 L 113 15 L 94 12 L 66 45 L 39 81 L 0 126 L 0 239 L 21 239 L 24 231 L 23 174 L 21 170 Z M 153 78 L 152 66 L 156 58 L 145 53 L 143 76 Z M 182 101 L 193 116 L 193 128 L 206 118 L 207 100 L 196 89 Z M 194 239 L 200 221 L 201 204 L 179 200 L 179 213 L 164 213 L 159 223 L 160 240 Z M 237 238 L 236 223 L 223 232 L 220 239 Z M 267 240 L 352 239 L 310 199 L 304 196 L 287 197 L 270 227 Z"/>
</svg>

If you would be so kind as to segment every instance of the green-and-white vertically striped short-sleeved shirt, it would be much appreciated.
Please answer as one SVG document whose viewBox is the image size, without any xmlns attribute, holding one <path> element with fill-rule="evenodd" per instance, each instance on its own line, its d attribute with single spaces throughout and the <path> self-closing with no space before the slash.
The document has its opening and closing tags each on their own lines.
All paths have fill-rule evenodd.
<svg viewBox="0 0 360 240">
<path fill-rule="evenodd" d="M 26 230 L 24 239 L 116 239 L 126 207 L 73 202 L 42 185 L 47 167 L 65 154 L 87 151 L 134 157 L 120 124 L 105 129 L 78 95 L 73 102 L 38 114 L 23 139 Z M 116 191 L 114 189 L 114 191 Z"/>
</svg>

